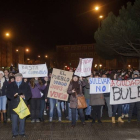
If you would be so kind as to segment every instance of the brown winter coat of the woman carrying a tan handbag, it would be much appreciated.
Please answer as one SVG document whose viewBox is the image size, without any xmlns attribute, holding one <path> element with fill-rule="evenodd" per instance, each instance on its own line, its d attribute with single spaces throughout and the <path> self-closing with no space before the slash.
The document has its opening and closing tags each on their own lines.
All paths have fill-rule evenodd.
<svg viewBox="0 0 140 140">
<path fill-rule="evenodd" d="M 80 94 L 77 94 L 77 96 L 83 96 L 82 87 L 85 86 L 85 82 L 81 81 L 79 84 L 80 84 Z M 70 96 L 70 108 L 77 108 L 77 97 L 71 95 L 72 90 L 73 89 L 72 89 L 72 82 L 71 82 L 67 90 L 67 93 Z"/>
</svg>

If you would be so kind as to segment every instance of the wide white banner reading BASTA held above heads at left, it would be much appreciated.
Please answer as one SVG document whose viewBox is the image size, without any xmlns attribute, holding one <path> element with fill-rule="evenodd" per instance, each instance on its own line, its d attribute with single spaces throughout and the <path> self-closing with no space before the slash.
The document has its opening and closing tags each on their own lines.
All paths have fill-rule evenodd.
<svg viewBox="0 0 140 140">
<path fill-rule="evenodd" d="M 39 65 L 23 65 L 18 64 L 19 72 L 24 78 L 46 77 L 48 76 L 48 69 L 46 64 Z"/>
</svg>

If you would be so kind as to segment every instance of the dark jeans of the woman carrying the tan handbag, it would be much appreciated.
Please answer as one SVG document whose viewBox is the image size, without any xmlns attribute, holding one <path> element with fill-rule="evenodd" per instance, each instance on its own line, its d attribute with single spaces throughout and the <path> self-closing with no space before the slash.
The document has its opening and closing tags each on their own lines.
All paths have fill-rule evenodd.
<svg viewBox="0 0 140 140">
<path fill-rule="evenodd" d="M 71 108 L 72 125 L 76 125 L 76 110 L 78 110 L 80 119 L 82 122 L 85 121 L 83 109 Z"/>
</svg>

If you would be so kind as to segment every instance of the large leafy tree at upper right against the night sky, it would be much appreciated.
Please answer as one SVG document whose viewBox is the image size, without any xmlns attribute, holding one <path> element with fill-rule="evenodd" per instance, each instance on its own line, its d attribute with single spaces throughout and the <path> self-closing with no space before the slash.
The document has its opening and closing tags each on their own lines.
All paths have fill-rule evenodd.
<svg viewBox="0 0 140 140">
<path fill-rule="evenodd" d="M 129 2 L 119 11 L 112 12 L 95 32 L 96 50 L 104 58 L 116 55 L 140 57 L 140 0 Z"/>
</svg>

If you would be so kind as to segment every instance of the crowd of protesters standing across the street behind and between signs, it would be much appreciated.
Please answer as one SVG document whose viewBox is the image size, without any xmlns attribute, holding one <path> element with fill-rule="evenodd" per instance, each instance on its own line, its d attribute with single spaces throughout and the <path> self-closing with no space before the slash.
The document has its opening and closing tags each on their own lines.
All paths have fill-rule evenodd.
<svg viewBox="0 0 140 140">
<path fill-rule="evenodd" d="M 73 69 L 70 69 L 73 71 Z M 132 115 L 137 115 L 137 121 L 140 122 L 140 102 L 129 104 L 110 104 L 110 93 L 90 94 L 89 79 L 91 77 L 110 78 L 111 80 L 129 80 L 139 79 L 140 73 L 138 70 L 99 70 L 93 71 L 88 77 L 78 77 L 73 75 L 67 93 L 69 94 L 68 101 L 60 101 L 53 98 L 48 98 L 51 72 L 46 77 L 41 78 L 23 78 L 21 73 L 13 73 L 8 70 L 0 71 L 0 110 L 1 122 L 6 123 L 12 121 L 13 138 L 18 134 L 25 137 L 25 118 L 19 119 L 20 126 L 18 132 L 18 115 L 13 111 L 18 106 L 19 97 L 23 98 L 30 110 L 31 123 L 44 122 L 44 115 L 47 115 L 49 110 L 49 121 L 54 119 L 55 111 L 57 110 L 58 121 L 62 120 L 62 112 L 65 113 L 66 119 L 71 121 L 71 127 L 76 126 L 76 121 L 81 120 L 82 125 L 85 125 L 86 120 L 92 120 L 94 124 L 97 120 L 102 123 L 101 118 L 104 115 L 103 108 L 106 106 L 108 117 L 112 123 L 116 123 L 115 117 L 118 117 L 118 122 L 124 123 L 123 118 L 128 118 L 131 122 Z M 87 108 L 77 108 L 77 97 L 85 96 Z"/>
</svg>

